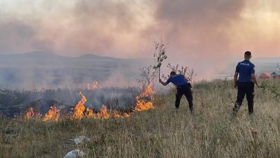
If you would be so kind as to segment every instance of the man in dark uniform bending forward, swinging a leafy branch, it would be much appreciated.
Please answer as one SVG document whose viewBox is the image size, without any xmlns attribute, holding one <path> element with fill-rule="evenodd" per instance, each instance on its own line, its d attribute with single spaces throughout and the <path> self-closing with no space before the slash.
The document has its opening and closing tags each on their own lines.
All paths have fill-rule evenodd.
<svg viewBox="0 0 280 158">
<path fill-rule="evenodd" d="M 172 82 L 174 85 L 176 85 L 177 89 L 175 102 L 176 111 L 178 111 L 182 96 L 185 95 L 187 101 L 189 102 L 189 110 L 193 114 L 194 105 L 192 103 L 192 85 L 189 82 L 187 82 L 185 76 L 176 74 L 176 72 L 174 71 L 170 73 L 170 78 L 167 80 L 167 82 L 162 82 L 162 80 L 160 79 L 160 83 L 164 86 L 168 85 L 169 82 Z"/>
</svg>

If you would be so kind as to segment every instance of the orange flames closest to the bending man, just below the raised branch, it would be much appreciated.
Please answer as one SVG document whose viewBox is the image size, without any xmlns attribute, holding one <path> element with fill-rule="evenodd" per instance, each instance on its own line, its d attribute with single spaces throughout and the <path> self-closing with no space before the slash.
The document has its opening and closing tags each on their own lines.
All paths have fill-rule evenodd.
<svg viewBox="0 0 280 158">
<path fill-rule="evenodd" d="M 136 96 L 136 107 L 134 107 L 134 112 L 140 112 L 147 109 L 153 109 L 153 103 L 151 101 L 147 101 L 144 98 L 147 98 L 151 94 L 154 94 L 153 88 L 151 85 L 148 85 L 146 89 L 140 94 L 140 96 Z"/>
</svg>

